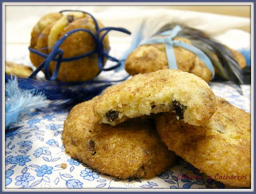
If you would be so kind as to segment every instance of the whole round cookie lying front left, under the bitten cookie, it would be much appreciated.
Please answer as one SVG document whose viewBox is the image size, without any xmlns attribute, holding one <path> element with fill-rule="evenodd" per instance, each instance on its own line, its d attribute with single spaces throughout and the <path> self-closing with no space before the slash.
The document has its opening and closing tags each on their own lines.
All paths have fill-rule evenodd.
<svg viewBox="0 0 256 194">
<path fill-rule="evenodd" d="M 73 107 L 64 122 L 62 141 L 69 156 L 118 178 L 151 178 L 174 163 L 174 153 L 162 143 L 152 121 L 100 124 L 93 114 L 94 101 Z"/>
</svg>

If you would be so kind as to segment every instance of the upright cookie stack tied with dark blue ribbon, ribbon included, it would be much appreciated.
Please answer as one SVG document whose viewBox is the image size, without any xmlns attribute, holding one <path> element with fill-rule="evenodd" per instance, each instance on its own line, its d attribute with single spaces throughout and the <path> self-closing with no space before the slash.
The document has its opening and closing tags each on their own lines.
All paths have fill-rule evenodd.
<svg viewBox="0 0 256 194">
<path fill-rule="evenodd" d="M 115 69 L 121 61 L 108 55 L 108 32 L 112 30 L 130 34 L 124 28 L 104 27 L 88 12 L 46 14 L 31 33 L 30 59 L 37 69 L 30 78 L 43 70 L 47 80 L 82 82 Z M 107 59 L 116 65 L 104 68 Z"/>
</svg>

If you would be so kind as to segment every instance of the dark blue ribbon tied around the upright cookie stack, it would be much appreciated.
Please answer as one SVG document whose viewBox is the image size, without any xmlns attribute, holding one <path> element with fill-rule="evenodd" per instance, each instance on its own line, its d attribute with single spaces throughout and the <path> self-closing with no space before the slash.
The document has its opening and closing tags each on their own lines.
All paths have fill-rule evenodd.
<svg viewBox="0 0 256 194">
<path fill-rule="evenodd" d="M 79 10 L 63 10 L 60 13 L 62 13 L 62 12 L 70 12 L 70 11 L 83 12 L 83 11 L 79 11 Z M 49 53 L 49 55 L 29 47 L 28 49 L 32 53 L 35 53 L 35 54 L 37 54 L 37 55 L 39 55 L 41 57 L 46 58 L 37 67 L 37 69 L 29 76 L 29 78 L 33 78 L 39 71 L 41 71 L 44 68 L 45 78 L 47 80 L 55 80 L 57 78 L 57 76 L 58 76 L 58 72 L 59 72 L 59 69 L 60 69 L 61 62 L 63 62 L 63 61 L 74 61 L 74 60 L 77 60 L 77 59 L 88 57 L 88 56 L 93 55 L 95 53 L 97 53 L 98 67 L 99 67 L 100 71 L 110 71 L 110 70 L 115 69 L 116 67 L 119 67 L 121 65 L 122 61 L 124 61 L 124 60 L 118 60 L 118 59 L 108 55 L 109 49 L 108 50 L 104 50 L 103 40 L 104 40 L 104 37 L 108 34 L 108 32 L 110 32 L 112 30 L 119 31 L 119 32 L 124 32 L 126 34 L 131 34 L 131 33 L 128 30 L 124 29 L 124 28 L 114 28 L 114 27 L 99 28 L 98 22 L 96 21 L 96 19 L 91 14 L 89 14 L 87 12 L 83 12 L 83 13 L 84 14 L 88 14 L 94 20 L 94 24 L 95 24 L 95 28 L 96 28 L 96 35 L 93 34 L 90 30 L 87 30 L 87 29 L 84 29 L 84 28 L 78 28 L 78 29 L 71 30 L 68 33 L 64 34 L 64 36 L 62 36 L 62 38 L 60 38 L 60 40 L 58 40 L 56 42 L 56 44 L 53 46 L 52 51 Z M 95 50 L 94 51 L 90 51 L 88 53 L 84 53 L 82 55 L 74 56 L 74 57 L 62 58 L 63 50 L 60 49 L 60 46 L 66 40 L 66 38 L 68 38 L 68 36 L 70 36 L 71 34 L 73 34 L 75 32 L 79 32 L 79 31 L 87 32 L 88 34 L 90 34 L 90 36 L 92 36 L 92 38 L 93 38 L 93 40 L 95 42 Z M 100 32 L 102 32 L 102 31 L 105 31 L 105 32 L 100 37 Z M 43 48 L 43 49 L 48 49 L 48 48 Z M 116 65 L 112 65 L 109 68 L 104 68 L 103 67 L 104 57 L 106 57 L 110 61 L 117 62 L 117 64 Z M 51 61 L 57 61 L 56 67 L 54 69 L 54 72 L 52 73 L 52 77 L 50 77 L 50 69 L 49 69 Z"/>
</svg>

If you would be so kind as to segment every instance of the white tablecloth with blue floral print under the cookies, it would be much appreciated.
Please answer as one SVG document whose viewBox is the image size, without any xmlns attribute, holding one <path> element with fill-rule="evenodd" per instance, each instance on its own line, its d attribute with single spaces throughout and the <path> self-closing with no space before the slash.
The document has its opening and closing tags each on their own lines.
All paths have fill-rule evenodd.
<svg viewBox="0 0 256 194">
<path fill-rule="evenodd" d="M 210 87 L 216 96 L 250 112 L 250 85 L 241 86 L 243 95 L 236 85 L 215 82 Z M 225 188 L 181 158 L 151 179 L 120 180 L 100 174 L 65 154 L 61 133 L 67 115 L 67 111 L 35 111 L 15 123 L 21 128 L 6 133 L 6 188 Z"/>
</svg>

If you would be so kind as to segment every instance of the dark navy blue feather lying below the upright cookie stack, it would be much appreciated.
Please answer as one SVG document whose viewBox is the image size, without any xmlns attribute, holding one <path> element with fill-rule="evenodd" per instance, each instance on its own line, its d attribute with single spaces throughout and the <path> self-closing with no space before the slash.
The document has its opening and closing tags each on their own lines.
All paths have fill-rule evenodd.
<svg viewBox="0 0 256 194">
<path fill-rule="evenodd" d="M 6 81 L 11 79 L 10 75 L 6 74 L 5 79 Z M 52 109 L 63 109 L 92 99 L 94 96 L 99 95 L 106 87 L 112 85 L 112 82 L 91 80 L 83 83 L 63 83 L 18 77 L 18 85 L 23 90 L 43 92 L 47 99 L 51 101 L 50 107 Z"/>
</svg>

